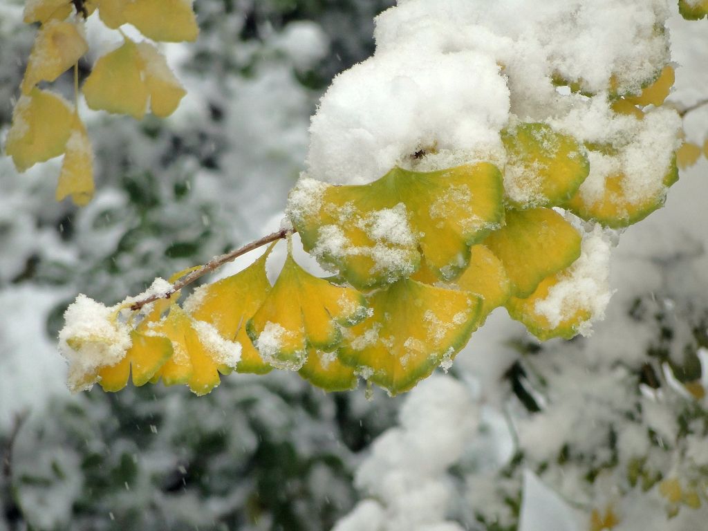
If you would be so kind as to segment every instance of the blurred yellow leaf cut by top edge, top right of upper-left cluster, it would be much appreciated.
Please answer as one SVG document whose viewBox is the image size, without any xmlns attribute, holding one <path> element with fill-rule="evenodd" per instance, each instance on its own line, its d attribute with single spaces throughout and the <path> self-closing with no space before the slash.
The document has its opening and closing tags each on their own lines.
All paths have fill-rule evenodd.
<svg viewBox="0 0 708 531">
<path fill-rule="evenodd" d="M 191 0 L 127 1 L 122 14 L 127 23 L 152 40 L 192 42 L 199 35 Z"/>
</svg>

